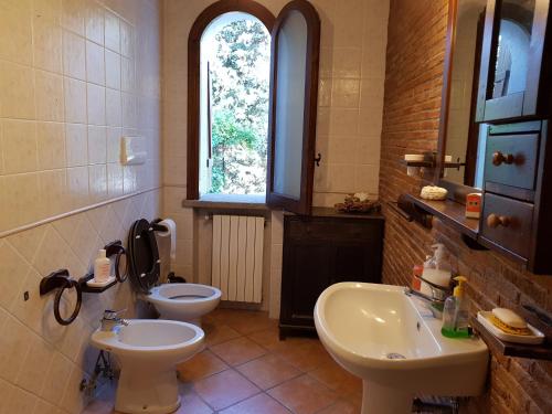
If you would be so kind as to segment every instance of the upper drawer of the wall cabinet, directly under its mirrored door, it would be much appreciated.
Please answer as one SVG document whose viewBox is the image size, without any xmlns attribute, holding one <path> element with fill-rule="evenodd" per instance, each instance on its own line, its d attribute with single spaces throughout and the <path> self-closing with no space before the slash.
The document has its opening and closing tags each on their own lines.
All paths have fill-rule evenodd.
<svg viewBox="0 0 552 414">
<path fill-rule="evenodd" d="M 534 190 L 538 146 L 538 134 L 489 136 L 485 160 L 486 183 Z M 497 190 L 493 188 L 492 191 Z"/>
</svg>

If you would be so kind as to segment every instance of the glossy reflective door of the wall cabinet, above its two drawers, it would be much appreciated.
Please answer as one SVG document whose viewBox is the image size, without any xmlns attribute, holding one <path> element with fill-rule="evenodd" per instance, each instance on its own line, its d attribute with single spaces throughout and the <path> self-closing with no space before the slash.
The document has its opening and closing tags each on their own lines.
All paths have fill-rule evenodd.
<svg viewBox="0 0 552 414">
<path fill-rule="evenodd" d="M 539 115 L 548 12 L 549 1 L 488 0 L 478 121 Z"/>
</svg>

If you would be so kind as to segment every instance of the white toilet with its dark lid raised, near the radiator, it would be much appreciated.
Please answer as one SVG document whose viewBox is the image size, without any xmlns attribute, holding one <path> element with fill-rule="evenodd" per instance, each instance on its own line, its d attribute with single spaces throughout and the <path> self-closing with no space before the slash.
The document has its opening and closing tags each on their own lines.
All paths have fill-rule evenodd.
<svg viewBox="0 0 552 414">
<path fill-rule="evenodd" d="M 201 326 L 201 317 L 214 310 L 221 300 L 221 290 L 212 286 L 188 283 L 157 286 L 161 262 L 153 226 L 145 219 L 130 229 L 128 257 L 130 280 L 162 319 Z"/>
</svg>

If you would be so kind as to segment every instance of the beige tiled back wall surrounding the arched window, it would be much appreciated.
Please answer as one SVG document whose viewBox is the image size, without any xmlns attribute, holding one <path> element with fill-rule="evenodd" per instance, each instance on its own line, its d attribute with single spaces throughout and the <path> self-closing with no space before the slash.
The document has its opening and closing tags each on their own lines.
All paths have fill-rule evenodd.
<svg viewBox="0 0 552 414">
<path fill-rule="evenodd" d="M 163 201 L 167 215 L 192 216 L 182 209 L 187 183 L 187 45 L 195 18 L 213 0 L 164 0 L 163 39 Z M 258 0 L 275 15 L 287 0 Z M 331 206 L 349 192 L 378 195 L 383 113 L 388 0 L 312 0 L 321 19 L 317 152 L 314 204 Z M 282 225 L 273 214 L 272 225 Z M 184 243 L 199 243 L 190 231 Z M 282 231 L 273 233 L 270 315 L 279 308 Z M 177 257 L 190 275 L 193 250 Z M 191 254 L 192 257 L 187 256 Z"/>
</svg>

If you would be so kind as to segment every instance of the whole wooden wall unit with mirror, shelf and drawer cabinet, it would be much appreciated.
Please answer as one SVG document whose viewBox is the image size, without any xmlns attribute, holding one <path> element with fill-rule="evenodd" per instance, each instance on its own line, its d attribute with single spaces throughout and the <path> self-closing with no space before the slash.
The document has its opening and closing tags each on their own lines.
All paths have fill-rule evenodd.
<svg viewBox="0 0 552 414">
<path fill-rule="evenodd" d="M 449 200 L 405 194 L 403 208 L 425 226 L 418 209 L 440 217 L 470 248 L 552 275 L 550 0 L 450 0 L 448 15 L 434 182 Z M 447 156 L 464 153 L 464 176 L 446 169 Z M 465 217 L 470 193 L 482 195 L 479 221 Z"/>
</svg>

